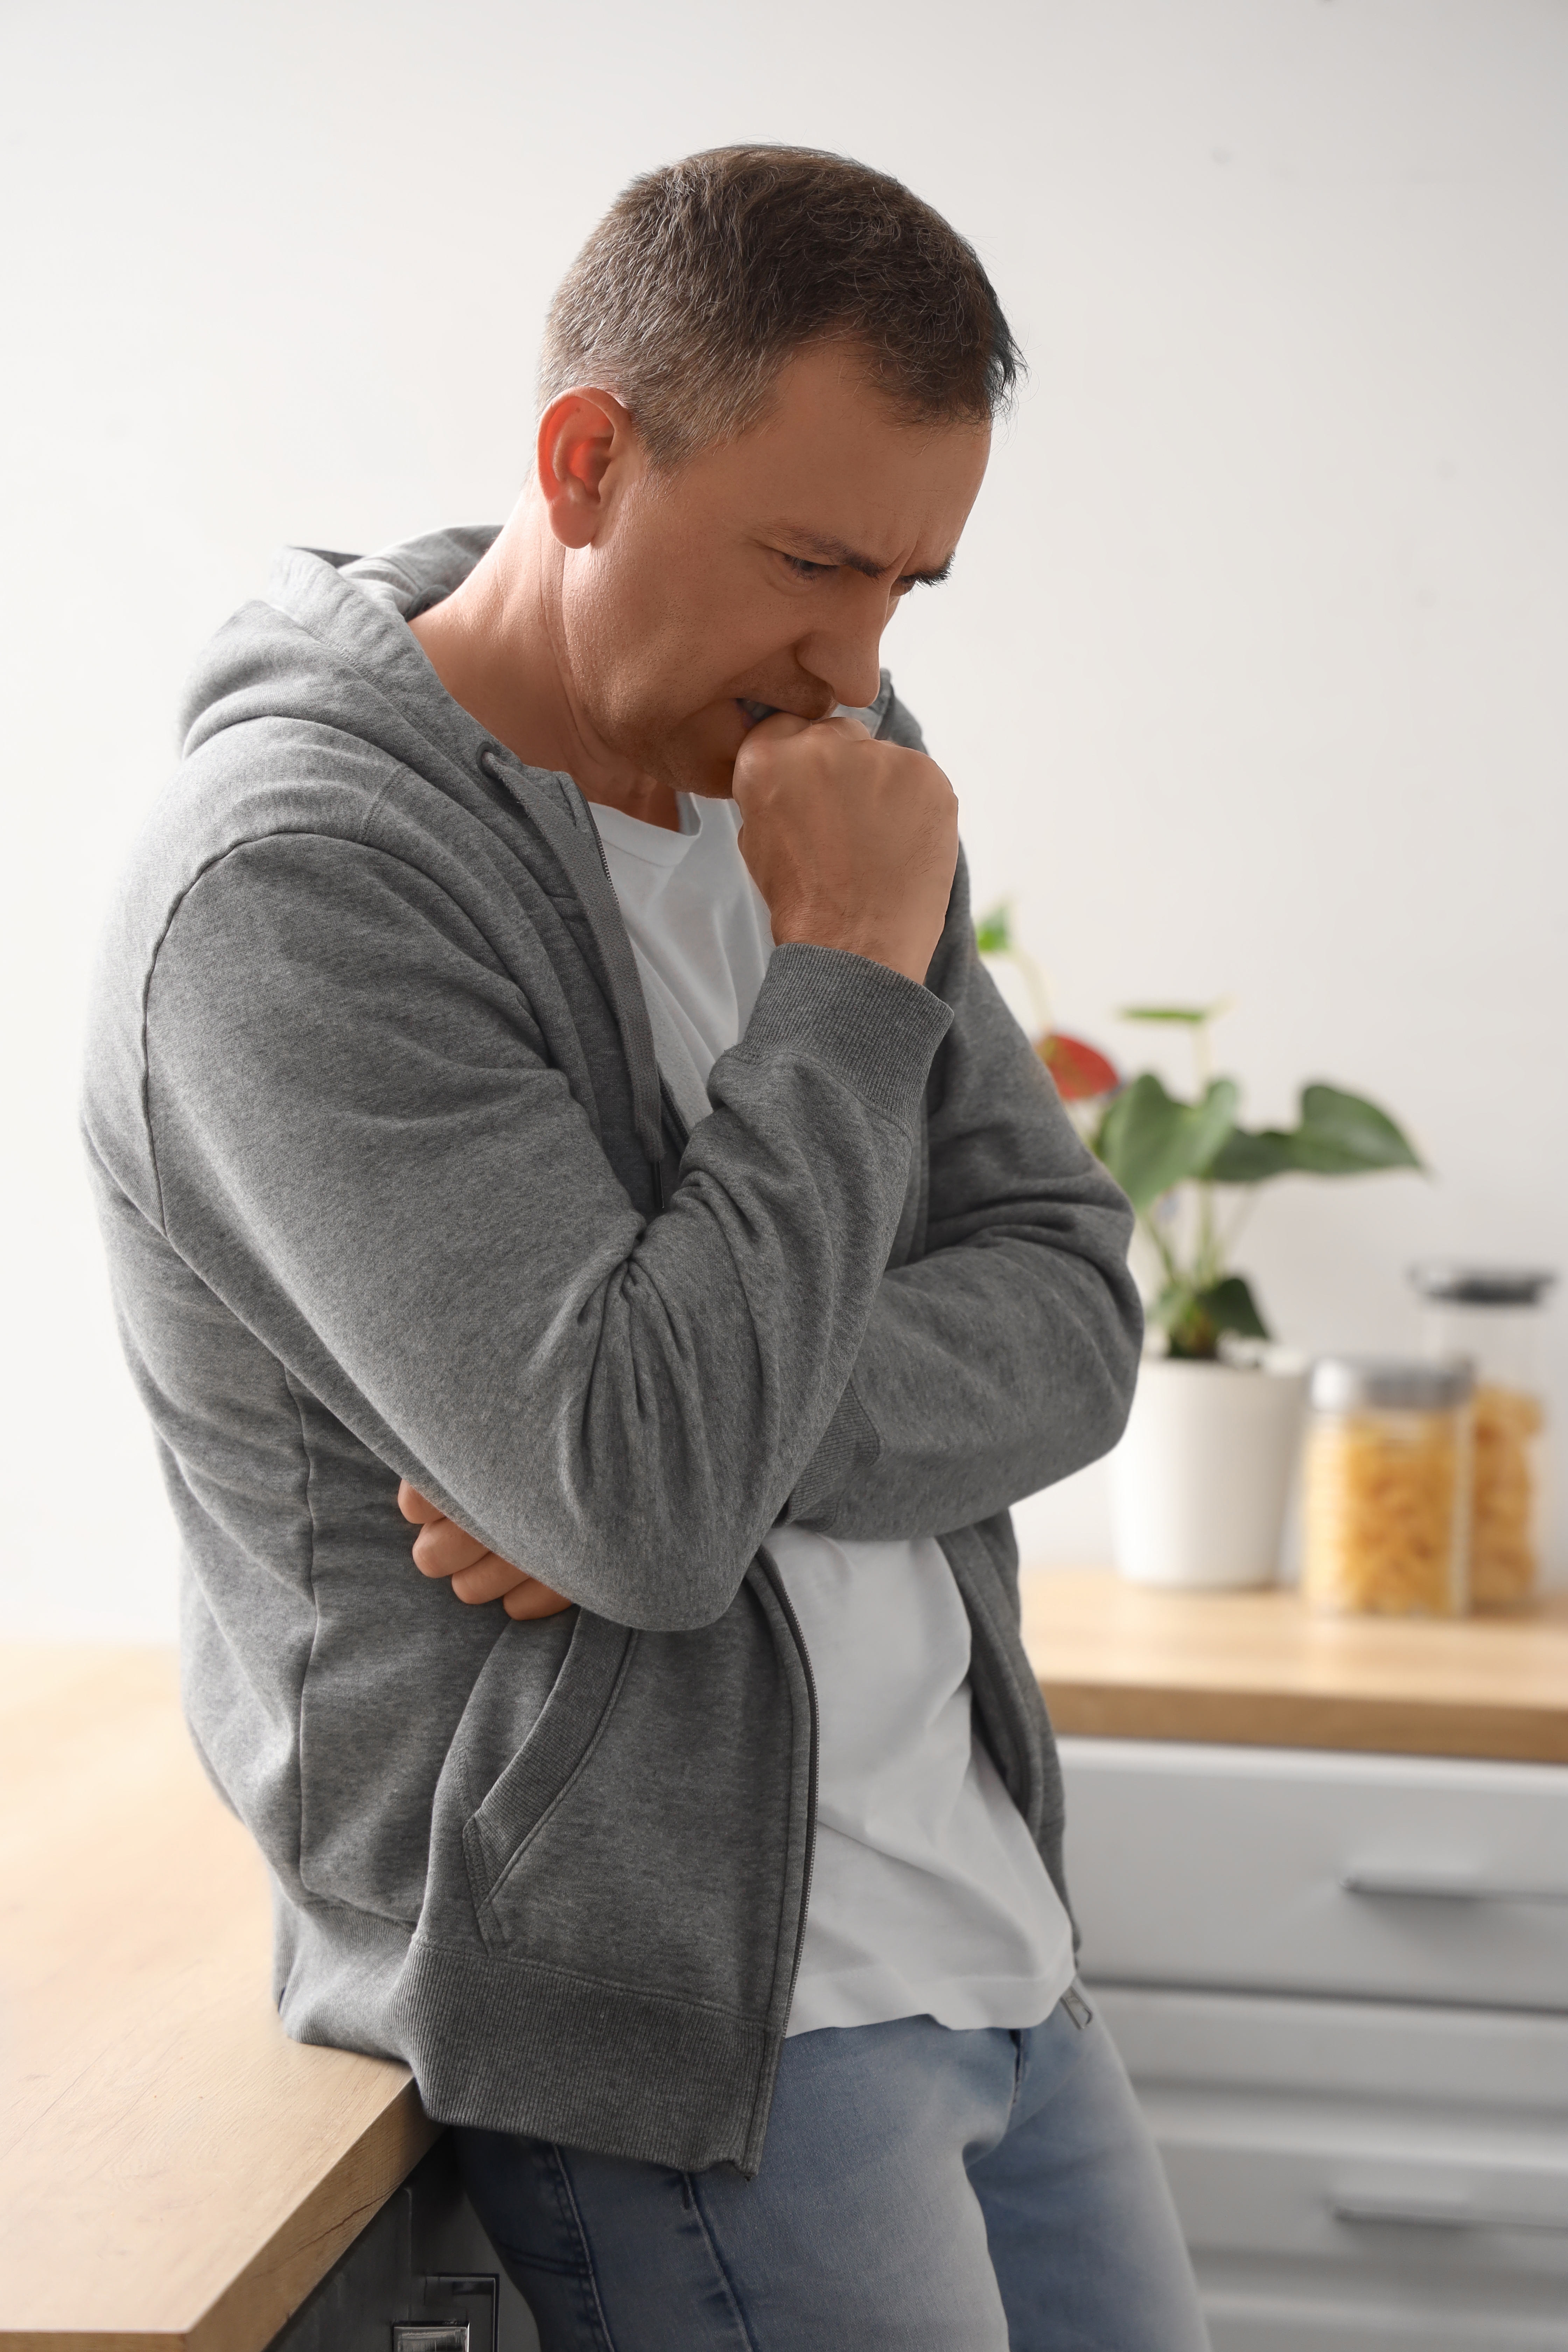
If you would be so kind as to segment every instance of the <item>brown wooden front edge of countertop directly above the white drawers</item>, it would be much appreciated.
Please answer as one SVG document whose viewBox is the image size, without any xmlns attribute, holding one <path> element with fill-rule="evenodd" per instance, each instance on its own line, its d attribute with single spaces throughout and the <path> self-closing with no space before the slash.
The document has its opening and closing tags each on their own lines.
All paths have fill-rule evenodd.
<svg viewBox="0 0 1568 2352">
<path fill-rule="evenodd" d="M 1568 1764 L 1568 1708 L 1039 1677 L 1058 1733 Z"/>
</svg>

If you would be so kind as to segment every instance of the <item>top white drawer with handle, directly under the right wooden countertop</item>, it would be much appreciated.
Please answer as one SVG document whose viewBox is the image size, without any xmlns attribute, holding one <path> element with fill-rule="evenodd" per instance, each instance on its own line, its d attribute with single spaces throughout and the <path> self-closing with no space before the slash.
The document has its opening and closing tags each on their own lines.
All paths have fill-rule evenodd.
<svg viewBox="0 0 1568 2352">
<path fill-rule="evenodd" d="M 1063 1740 L 1086 1976 L 1568 2011 L 1568 1771 Z"/>
</svg>

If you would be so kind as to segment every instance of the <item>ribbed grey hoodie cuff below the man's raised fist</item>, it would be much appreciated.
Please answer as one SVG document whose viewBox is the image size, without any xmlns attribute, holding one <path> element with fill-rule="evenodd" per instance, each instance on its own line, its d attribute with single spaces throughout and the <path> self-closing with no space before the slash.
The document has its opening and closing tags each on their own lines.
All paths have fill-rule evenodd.
<svg viewBox="0 0 1568 2352">
<path fill-rule="evenodd" d="M 736 1054 L 743 1061 L 809 1054 L 912 1131 L 950 1025 L 952 1007 L 903 971 L 846 948 L 792 943 L 773 948 Z"/>
</svg>

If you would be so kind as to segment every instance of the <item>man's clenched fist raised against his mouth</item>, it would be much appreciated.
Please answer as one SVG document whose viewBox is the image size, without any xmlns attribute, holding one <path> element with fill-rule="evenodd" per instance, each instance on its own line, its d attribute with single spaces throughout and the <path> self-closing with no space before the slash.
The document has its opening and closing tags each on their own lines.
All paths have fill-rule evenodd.
<svg viewBox="0 0 1568 2352">
<path fill-rule="evenodd" d="M 959 804 L 936 760 L 860 720 L 780 710 L 736 757 L 741 856 L 773 941 L 849 948 L 926 978 L 959 861 Z"/>
</svg>

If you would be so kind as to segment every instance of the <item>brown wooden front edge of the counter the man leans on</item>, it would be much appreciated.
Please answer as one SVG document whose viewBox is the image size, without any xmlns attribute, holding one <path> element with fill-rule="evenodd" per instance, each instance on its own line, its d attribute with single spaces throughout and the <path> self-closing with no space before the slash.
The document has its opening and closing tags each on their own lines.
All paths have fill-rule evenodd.
<svg viewBox="0 0 1568 2352">
<path fill-rule="evenodd" d="M 0 2352 L 263 2352 L 442 2136 L 411 2082 L 381 2110 L 216 2303 L 176 2333 L 0 2326 Z"/>
</svg>

